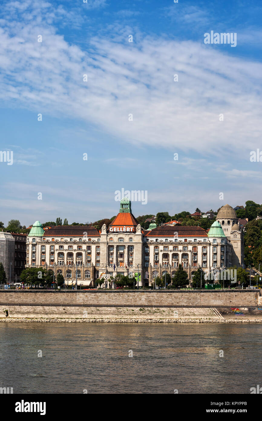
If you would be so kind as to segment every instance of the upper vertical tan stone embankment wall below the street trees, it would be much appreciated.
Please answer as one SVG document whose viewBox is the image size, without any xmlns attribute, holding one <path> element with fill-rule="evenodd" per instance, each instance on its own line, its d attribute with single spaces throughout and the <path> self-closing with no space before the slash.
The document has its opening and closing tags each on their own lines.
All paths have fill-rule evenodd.
<svg viewBox="0 0 262 421">
<path fill-rule="evenodd" d="M 202 291 L 50 291 L 0 290 L 0 305 L 34 304 L 42 306 L 230 306 L 255 307 L 262 305 L 260 292 L 256 290 L 202 290 Z"/>
</svg>

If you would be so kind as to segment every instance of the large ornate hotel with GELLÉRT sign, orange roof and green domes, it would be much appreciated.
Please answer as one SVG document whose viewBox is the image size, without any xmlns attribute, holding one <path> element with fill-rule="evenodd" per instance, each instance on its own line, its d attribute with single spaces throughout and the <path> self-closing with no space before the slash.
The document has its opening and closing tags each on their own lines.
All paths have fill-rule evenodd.
<svg viewBox="0 0 262 421">
<path fill-rule="evenodd" d="M 207 231 L 199 226 L 157 227 L 154 223 L 144 230 L 126 197 L 120 202 L 118 215 L 101 231 L 93 226 L 43 228 L 37 221 L 27 237 L 27 267 L 54 269 L 69 285 L 77 279 L 78 285 L 94 286 L 104 277 L 109 286 L 110 276 L 118 273 L 138 277 L 139 285 L 151 285 L 155 277 L 165 273 L 173 277 L 179 264 L 189 279 L 199 266 L 205 272 L 240 266 L 243 237 L 235 224 L 237 219 L 231 218 L 232 210 L 229 205 L 222 207 Z"/>
</svg>

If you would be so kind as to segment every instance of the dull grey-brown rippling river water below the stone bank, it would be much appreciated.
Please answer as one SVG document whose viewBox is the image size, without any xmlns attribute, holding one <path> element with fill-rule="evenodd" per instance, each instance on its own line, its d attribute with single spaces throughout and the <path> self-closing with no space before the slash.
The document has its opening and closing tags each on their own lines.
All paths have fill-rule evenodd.
<svg viewBox="0 0 262 421">
<path fill-rule="evenodd" d="M 0 323 L 14 394 L 250 394 L 261 362 L 262 323 Z"/>
</svg>

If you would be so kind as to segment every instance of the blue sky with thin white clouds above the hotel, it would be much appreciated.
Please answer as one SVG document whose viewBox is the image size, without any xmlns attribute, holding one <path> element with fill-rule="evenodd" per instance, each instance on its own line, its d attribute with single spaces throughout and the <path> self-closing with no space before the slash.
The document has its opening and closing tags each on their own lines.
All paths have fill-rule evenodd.
<svg viewBox="0 0 262 421">
<path fill-rule="evenodd" d="M 148 192 L 135 216 L 262 203 L 261 18 L 258 1 L 3 3 L 0 220 L 111 218 L 122 188 Z"/>
</svg>

